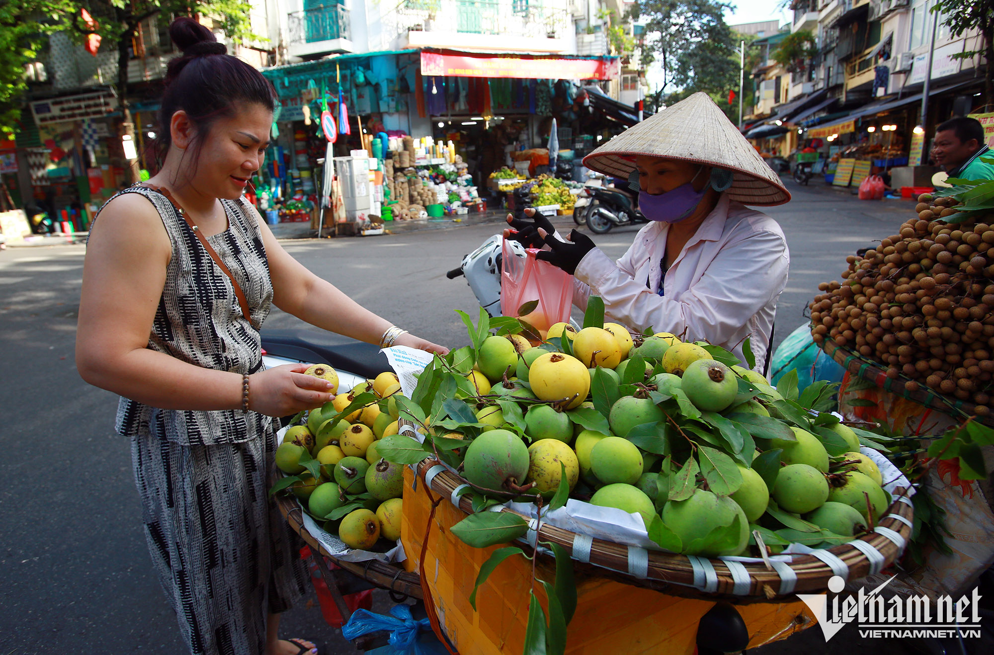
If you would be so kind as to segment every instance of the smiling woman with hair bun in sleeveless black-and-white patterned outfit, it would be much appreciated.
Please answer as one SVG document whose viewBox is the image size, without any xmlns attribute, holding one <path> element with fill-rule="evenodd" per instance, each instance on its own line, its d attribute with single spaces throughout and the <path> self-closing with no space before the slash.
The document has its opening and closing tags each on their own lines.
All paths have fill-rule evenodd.
<svg viewBox="0 0 994 655">
<path fill-rule="evenodd" d="M 266 481 L 272 417 L 332 395 L 304 366 L 264 370 L 258 329 L 270 304 L 369 343 L 392 326 L 295 261 L 243 198 L 268 145 L 271 84 L 193 19 L 170 35 L 184 55 L 165 81 L 164 163 L 90 229 L 77 366 L 121 396 L 116 430 L 131 438 L 149 551 L 190 651 L 316 652 L 277 638 L 307 572 Z M 447 352 L 408 333 L 395 343 Z"/>
</svg>

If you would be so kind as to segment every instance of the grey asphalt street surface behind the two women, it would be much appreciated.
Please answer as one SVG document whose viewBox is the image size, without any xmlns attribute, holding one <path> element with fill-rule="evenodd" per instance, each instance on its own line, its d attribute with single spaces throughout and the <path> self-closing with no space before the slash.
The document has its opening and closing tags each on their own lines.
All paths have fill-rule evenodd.
<svg viewBox="0 0 994 655">
<path fill-rule="evenodd" d="M 860 202 L 787 184 L 794 200 L 768 211 L 783 227 L 791 258 L 777 341 L 803 322 L 818 282 L 836 278 L 847 254 L 893 234 L 911 213 L 908 202 Z M 365 306 L 455 347 L 468 339 L 453 309 L 475 314 L 477 304 L 465 281 L 448 280 L 445 271 L 498 228 L 284 247 Z M 616 230 L 595 242 L 620 256 L 634 233 Z M 112 431 L 116 398 L 76 372 L 83 255 L 84 246 L 0 252 L 0 655 L 181 653 L 175 618 L 150 568 L 129 444 Z M 274 311 L 266 327 L 302 324 Z M 284 634 L 326 642 L 325 653 L 354 652 L 308 605 L 286 615 Z M 826 652 L 820 634 L 812 637 L 783 645 L 797 648 L 805 639 L 812 653 Z"/>
</svg>

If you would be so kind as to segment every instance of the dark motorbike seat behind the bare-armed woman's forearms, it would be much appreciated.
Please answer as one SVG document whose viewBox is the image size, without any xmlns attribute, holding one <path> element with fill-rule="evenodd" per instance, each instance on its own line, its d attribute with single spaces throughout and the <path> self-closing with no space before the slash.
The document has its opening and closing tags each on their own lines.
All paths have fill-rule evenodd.
<svg viewBox="0 0 994 655">
<path fill-rule="evenodd" d="M 262 349 L 273 357 L 328 364 L 370 379 L 392 370 L 387 356 L 380 352 L 380 346 L 331 332 L 273 329 L 262 330 L 260 337 Z"/>
</svg>

